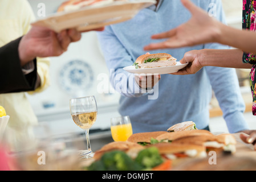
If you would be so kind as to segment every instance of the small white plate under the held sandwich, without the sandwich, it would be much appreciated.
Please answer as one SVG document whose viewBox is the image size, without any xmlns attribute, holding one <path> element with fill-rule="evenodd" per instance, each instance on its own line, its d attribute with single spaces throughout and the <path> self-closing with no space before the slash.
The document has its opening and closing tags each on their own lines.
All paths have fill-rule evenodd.
<svg viewBox="0 0 256 182">
<path fill-rule="evenodd" d="M 185 68 L 186 64 L 181 64 L 179 61 L 177 61 L 177 65 L 170 66 L 170 67 L 159 67 L 159 68 L 139 68 L 136 69 L 135 66 L 129 66 L 125 67 L 124 70 L 129 73 L 136 73 L 136 74 L 159 74 L 159 75 L 165 75 L 169 73 L 176 73 L 180 69 Z"/>
</svg>

